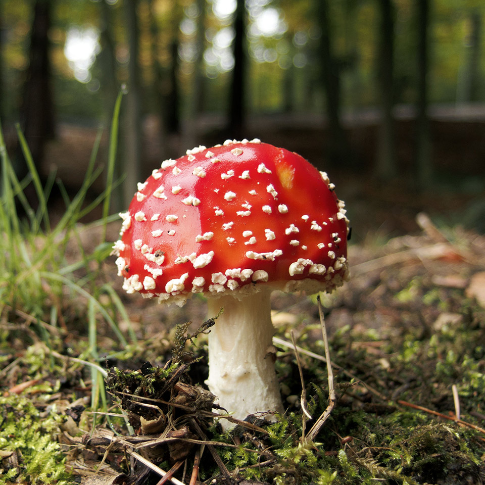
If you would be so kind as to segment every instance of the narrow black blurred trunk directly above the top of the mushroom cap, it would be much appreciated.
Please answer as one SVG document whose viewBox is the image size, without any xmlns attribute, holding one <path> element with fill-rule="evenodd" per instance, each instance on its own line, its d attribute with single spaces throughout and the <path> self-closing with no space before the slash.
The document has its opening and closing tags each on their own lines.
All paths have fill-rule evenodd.
<svg viewBox="0 0 485 485">
<path fill-rule="evenodd" d="M 232 70 L 229 99 L 229 136 L 236 139 L 240 139 L 246 129 L 246 17 L 245 0 L 237 0 L 232 42 L 234 69 Z"/>
</svg>

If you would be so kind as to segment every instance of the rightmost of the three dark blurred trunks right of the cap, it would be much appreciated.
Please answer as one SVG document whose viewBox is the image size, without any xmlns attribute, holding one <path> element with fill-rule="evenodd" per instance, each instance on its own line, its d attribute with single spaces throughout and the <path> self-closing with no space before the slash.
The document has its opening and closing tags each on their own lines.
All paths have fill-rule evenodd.
<svg viewBox="0 0 485 485">
<path fill-rule="evenodd" d="M 432 183 L 431 134 L 428 116 L 429 8 L 431 0 L 416 0 L 418 23 L 418 82 L 416 162 L 421 189 Z"/>
</svg>

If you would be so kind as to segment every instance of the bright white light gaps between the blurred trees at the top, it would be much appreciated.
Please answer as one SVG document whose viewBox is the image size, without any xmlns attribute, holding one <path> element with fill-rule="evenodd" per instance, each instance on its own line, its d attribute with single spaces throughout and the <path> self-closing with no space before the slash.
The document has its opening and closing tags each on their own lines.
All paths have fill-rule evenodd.
<svg viewBox="0 0 485 485">
<path fill-rule="evenodd" d="M 108 3 L 116 7 L 118 1 Z M 167 2 L 161 0 L 154 4 L 153 11 L 164 15 L 166 11 L 164 4 Z M 190 76 L 194 73 L 200 49 L 197 38 L 198 22 L 201 17 L 200 6 L 197 2 L 186 2 L 186 4 L 179 21 L 178 55 L 182 76 Z M 285 13 L 273 4 L 272 0 L 247 2 L 249 19 L 247 35 L 251 58 L 258 64 L 276 64 L 278 69 L 285 70 L 292 66 L 304 68 L 308 62 L 304 47 L 309 39 L 318 39 L 321 30 L 317 26 L 311 26 L 308 32 L 297 31 L 293 38 L 290 38 Z M 235 0 L 209 2 L 206 18 L 209 19 L 210 25 L 204 32 L 206 46 L 202 55 L 204 74 L 209 79 L 215 79 L 234 68 L 232 20 L 235 8 Z M 96 91 L 101 87 L 100 79 L 92 74 L 96 56 L 101 52 L 100 35 L 100 28 L 89 23 L 68 25 L 65 33 L 64 55 L 72 75 L 77 81 L 88 84 L 90 91 Z M 126 64 L 129 61 L 123 47 L 119 47 L 117 60 L 120 64 Z M 270 103 L 268 108 L 271 108 Z"/>
</svg>

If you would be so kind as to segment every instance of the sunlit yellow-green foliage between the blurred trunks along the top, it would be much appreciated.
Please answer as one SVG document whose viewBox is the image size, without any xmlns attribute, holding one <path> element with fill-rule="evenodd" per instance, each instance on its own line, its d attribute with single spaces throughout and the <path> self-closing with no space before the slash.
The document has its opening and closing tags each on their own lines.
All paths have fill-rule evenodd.
<svg viewBox="0 0 485 485">
<path fill-rule="evenodd" d="M 84 0 L 48 2 L 51 4 L 50 41 L 54 74 L 59 76 L 56 103 L 70 115 L 86 116 L 78 103 L 68 103 L 65 91 L 76 90 L 66 85 L 69 78 L 85 85 L 84 96 L 106 89 L 110 74 L 102 71 L 100 53 L 107 49 L 102 36 L 108 34 L 112 43 L 117 70 L 115 78 L 123 82 L 123 70 L 129 62 L 128 38 L 123 25 L 124 12 L 119 0 Z M 3 3 L 2 50 L 5 84 L 15 91 L 20 86 L 28 65 L 29 21 L 31 2 L 26 0 Z M 413 2 L 397 0 L 395 4 L 396 101 L 411 103 L 415 99 L 416 13 Z M 248 0 L 246 28 L 247 49 L 251 59 L 251 107 L 255 110 L 282 110 L 293 104 L 295 110 L 321 110 L 323 97 L 318 85 L 319 49 L 322 28 L 315 18 L 316 2 L 296 0 Z M 140 73 L 144 85 L 153 81 L 155 63 L 168 68 L 170 45 L 177 42 L 178 76 L 183 92 L 189 93 L 191 76 L 203 69 L 208 80 L 205 109 L 221 109 L 226 100 L 220 95 L 234 67 L 232 43 L 233 17 L 236 0 L 207 2 L 151 0 L 137 2 Z M 335 53 L 341 63 L 342 99 L 344 106 L 358 108 L 374 105 L 377 62 L 378 11 L 373 2 L 338 0 L 329 3 Z M 204 11 L 202 11 L 202 9 Z M 430 37 L 432 63 L 430 78 L 431 101 L 440 103 L 467 102 L 470 76 L 470 51 L 473 49 L 473 18 L 483 14 L 481 2 L 466 5 L 446 0 L 432 4 Z M 481 25 L 481 24 L 480 24 Z M 199 34 L 203 29 L 203 36 Z M 482 50 L 483 38 L 479 50 Z M 154 46 L 153 43 L 157 45 Z M 203 45 L 201 45 L 201 42 Z M 62 55 L 59 51 L 62 50 Z M 201 61 L 203 65 L 201 65 Z M 100 64 L 96 69 L 96 64 Z M 483 56 L 477 59 L 478 71 L 483 71 Z M 221 80 L 221 76 L 224 80 Z M 483 84 L 483 83 L 482 83 Z M 289 85 L 289 88 L 287 87 Z M 286 86 L 286 87 L 285 87 Z M 288 101 L 288 91 L 293 99 Z M 483 96 L 480 88 L 478 98 Z M 79 100 L 78 90 L 75 99 Z M 15 98 L 5 100 L 4 117 L 15 112 Z M 477 101 L 477 100 L 471 100 Z M 77 108 L 76 109 L 76 105 Z"/>
</svg>

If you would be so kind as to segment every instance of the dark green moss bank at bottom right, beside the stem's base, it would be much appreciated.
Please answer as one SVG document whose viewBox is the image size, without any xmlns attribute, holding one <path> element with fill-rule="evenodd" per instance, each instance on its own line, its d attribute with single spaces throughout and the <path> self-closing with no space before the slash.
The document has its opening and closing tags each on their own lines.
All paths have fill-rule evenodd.
<svg viewBox="0 0 485 485">
<path fill-rule="evenodd" d="M 476 372 L 475 364 L 463 363 L 471 372 Z M 481 383 L 480 378 L 478 381 Z M 227 468 L 239 469 L 239 475 L 246 479 L 274 485 L 373 485 L 376 481 L 418 485 L 485 480 L 481 458 L 485 447 L 476 431 L 391 404 L 358 404 L 355 399 L 345 398 L 347 391 L 356 392 L 353 386 L 337 383 L 337 387 L 341 399 L 315 443 L 302 440 L 299 412 L 289 412 L 277 422 L 263 425 L 267 435 L 241 432 L 238 428 L 218 434 L 211 428 L 211 439 L 216 441 L 233 443 L 231 435 L 244 437 L 241 448 L 220 450 Z M 318 416 L 327 405 L 326 391 L 321 385 L 312 384 L 307 394 L 308 408 L 313 416 Z M 255 453 L 247 451 L 253 447 Z M 248 468 L 255 460 L 267 459 L 259 456 L 257 449 L 269 450 L 273 464 Z"/>
</svg>

